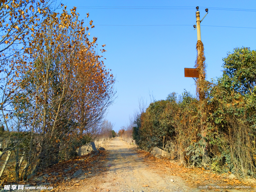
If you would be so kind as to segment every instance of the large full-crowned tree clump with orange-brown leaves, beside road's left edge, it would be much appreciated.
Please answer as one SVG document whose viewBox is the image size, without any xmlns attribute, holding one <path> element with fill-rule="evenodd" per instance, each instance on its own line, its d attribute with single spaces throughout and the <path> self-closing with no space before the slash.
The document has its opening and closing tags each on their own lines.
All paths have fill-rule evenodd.
<svg viewBox="0 0 256 192">
<path fill-rule="evenodd" d="M 12 144 L 18 151 L 26 143 L 26 163 L 16 178 L 26 179 L 28 173 L 58 163 L 62 152 L 84 134 L 92 140 L 115 99 L 113 74 L 94 49 L 97 38 L 89 40 L 89 28 L 78 16 L 76 7 L 70 13 L 66 6 L 62 13 L 47 12 L 31 34 L 24 57 L 13 62 L 18 70 L 12 81 L 23 86 L 13 90 L 16 96 L 9 108 L 14 112 L 8 123 L 26 133 Z"/>
</svg>

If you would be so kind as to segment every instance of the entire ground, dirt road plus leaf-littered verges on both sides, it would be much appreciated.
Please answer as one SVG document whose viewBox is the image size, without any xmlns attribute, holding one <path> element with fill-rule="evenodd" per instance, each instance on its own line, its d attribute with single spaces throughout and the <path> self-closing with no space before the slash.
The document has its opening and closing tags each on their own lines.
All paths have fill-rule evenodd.
<svg viewBox="0 0 256 192">
<path fill-rule="evenodd" d="M 94 152 L 60 162 L 36 173 L 28 181 L 6 184 L 53 187 L 52 190 L 29 190 L 25 187 L 24 190 L 18 190 L 23 192 L 255 191 L 255 178 L 239 180 L 231 173 L 218 175 L 204 168 L 185 168 L 178 162 L 139 150 L 125 143 L 120 137 L 108 140 L 98 148 L 101 150 L 99 153 Z M 199 185 L 213 184 L 247 188 L 197 188 Z"/>
</svg>

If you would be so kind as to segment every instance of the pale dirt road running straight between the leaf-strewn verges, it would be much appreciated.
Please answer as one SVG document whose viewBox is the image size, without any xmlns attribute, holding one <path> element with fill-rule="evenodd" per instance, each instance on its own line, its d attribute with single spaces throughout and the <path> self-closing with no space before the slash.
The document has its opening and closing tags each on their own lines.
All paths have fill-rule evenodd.
<svg viewBox="0 0 256 192">
<path fill-rule="evenodd" d="M 143 162 L 132 146 L 115 137 L 106 143 L 107 172 L 79 182 L 69 191 L 196 191 L 178 176 L 161 174 Z M 83 179 L 84 177 L 80 178 Z M 79 178 L 78 178 L 79 179 Z M 171 182 L 173 179 L 173 182 Z M 144 187 L 143 187 L 144 186 Z"/>
</svg>

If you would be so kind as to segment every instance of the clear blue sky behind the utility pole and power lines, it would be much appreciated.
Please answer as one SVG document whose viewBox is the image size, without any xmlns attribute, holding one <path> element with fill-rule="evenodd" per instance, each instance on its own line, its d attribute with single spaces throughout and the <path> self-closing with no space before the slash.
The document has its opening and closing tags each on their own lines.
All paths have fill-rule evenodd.
<svg viewBox="0 0 256 192">
<path fill-rule="evenodd" d="M 222 58 L 228 51 L 242 46 L 256 49 L 255 0 L 65 0 L 62 3 L 68 8 L 76 6 L 81 19 L 89 12 L 85 24 L 93 20 L 95 28 L 90 30 L 91 36 L 98 37 L 98 45 L 106 44 L 105 64 L 116 76 L 118 95 L 115 104 L 109 108 L 107 119 L 115 123 L 115 131 L 138 109 L 139 97 L 145 97 L 149 104 L 149 90 L 156 100 L 165 99 L 173 91 L 181 94 L 184 89 L 195 94 L 194 80 L 184 77 L 184 68 L 193 68 L 196 60 L 197 33 L 193 28 L 196 6 L 199 6 L 200 18 L 206 14 L 205 8 L 209 8 L 201 22 L 208 80 L 221 76 Z M 232 8 L 254 11 L 230 10 Z"/>
</svg>

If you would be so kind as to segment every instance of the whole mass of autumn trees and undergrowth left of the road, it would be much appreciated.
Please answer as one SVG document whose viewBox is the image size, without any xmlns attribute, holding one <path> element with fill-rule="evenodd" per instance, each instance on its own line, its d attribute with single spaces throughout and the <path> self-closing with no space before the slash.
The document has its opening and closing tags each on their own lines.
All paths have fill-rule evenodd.
<svg viewBox="0 0 256 192">
<path fill-rule="evenodd" d="M 102 123 L 115 99 L 115 78 L 103 62 L 105 45 L 98 48 L 90 37 L 89 13 L 85 23 L 76 7 L 60 5 L 57 12 L 53 3 L 0 1 L 4 180 L 26 180 L 105 134 Z"/>
</svg>

